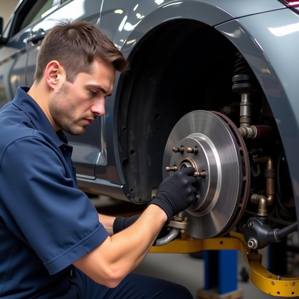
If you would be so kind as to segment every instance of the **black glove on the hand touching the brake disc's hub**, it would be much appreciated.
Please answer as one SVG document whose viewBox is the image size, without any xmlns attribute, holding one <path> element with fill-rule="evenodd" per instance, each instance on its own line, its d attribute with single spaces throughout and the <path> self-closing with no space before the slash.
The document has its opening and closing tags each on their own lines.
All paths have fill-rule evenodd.
<svg viewBox="0 0 299 299">
<path fill-rule="evenodd" d="M 160 184 L 156 197 L 147 205 L 155 204 L 165 211 L 167 214 L 165 224 L 195 201 L 194 195 L 197 190 L 194 185 L 197 179 L 193 176 L 194 172 L 193 167 L 177 170 Z"/>
</svg>

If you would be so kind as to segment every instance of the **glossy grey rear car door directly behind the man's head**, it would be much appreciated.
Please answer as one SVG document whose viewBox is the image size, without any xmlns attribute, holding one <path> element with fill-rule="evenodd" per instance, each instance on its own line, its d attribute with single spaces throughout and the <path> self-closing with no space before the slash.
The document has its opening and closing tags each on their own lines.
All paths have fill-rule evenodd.
<svg viewBox="0 0 299 299">
<path fill-rule="evenodd" d="M 48 14 L 32 24 L 28 41 L 27 81 L 33 84 L 36 57 L 43 37 L 55 24 L 66 19 L 82 19 L 97 25 L 100 17 L 101 1 L 99 0 L 68 0 L 60 6 L 53 7 Z M 77 176 L 95 179 L 94 164 L 100 149 L 100 118 L 96 118 L 83 135 L 67 134 L 69 144 L 73 146 L 72 160 L 76 166 Z"/>
</svg>

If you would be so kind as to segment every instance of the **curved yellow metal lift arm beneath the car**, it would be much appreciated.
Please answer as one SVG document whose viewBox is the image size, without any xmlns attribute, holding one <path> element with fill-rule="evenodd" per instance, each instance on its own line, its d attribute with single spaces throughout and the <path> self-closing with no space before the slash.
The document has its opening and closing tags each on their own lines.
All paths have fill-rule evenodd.
<svg viewBox="0 0 299 299">
<path fill-rule="evenodd" d="M 251 251 L 240 233 L 230 232 L 230 237 L 206 240 L 176 239 L 162 247 L 153 246 L 149 252 L 192 253 L 201 250 L 238 250 L 247 266 L 251 282 L 262 292 L 277 297 L 298 297 L 299 277 L 277 276 L 262 266 L 262 256 Z"/>
</svg>

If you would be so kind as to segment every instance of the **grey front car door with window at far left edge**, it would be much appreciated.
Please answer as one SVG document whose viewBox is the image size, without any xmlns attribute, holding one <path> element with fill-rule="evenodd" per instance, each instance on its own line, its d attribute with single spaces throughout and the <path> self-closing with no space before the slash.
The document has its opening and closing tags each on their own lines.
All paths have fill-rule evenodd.
<svg viewBox="0 0 299 299">
<path fill-rule="evenodd" d="M 0 49 L 0 108 L 13 99 L 18 86 L 27 83 L 25 66 L 31 28 L 24 22 L 23 16 L 32 10 L 31 3 L 28 2 L 19 2 L 3 33 L 7 42 Z"/>
</svg>

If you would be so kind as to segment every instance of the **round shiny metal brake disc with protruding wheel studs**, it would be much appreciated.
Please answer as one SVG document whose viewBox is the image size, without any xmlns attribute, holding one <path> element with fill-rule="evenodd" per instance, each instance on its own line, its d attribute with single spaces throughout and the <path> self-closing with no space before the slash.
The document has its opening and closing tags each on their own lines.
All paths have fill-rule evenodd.
<svg viewBox="0 0 299 299">
<path fill-rule="evenodd" d="M 174 152 L 178 148 L 180 152 Z M 198 239 L 226 234 L 245 209 L 250 172 L 244 140 L 225 115 L 197 110 L 173 127 L 164 150 L 163 179 L 190 166 L 201 176 L 197 200 L 183 212 L 189 222 L 187 234 Z"/>
</svg>

